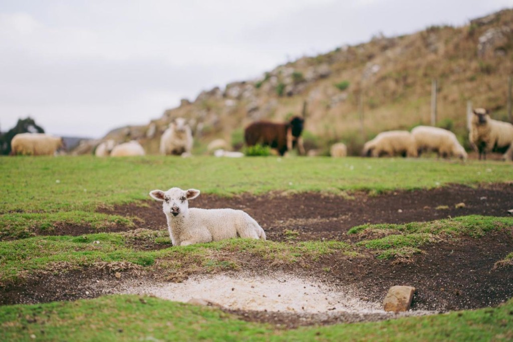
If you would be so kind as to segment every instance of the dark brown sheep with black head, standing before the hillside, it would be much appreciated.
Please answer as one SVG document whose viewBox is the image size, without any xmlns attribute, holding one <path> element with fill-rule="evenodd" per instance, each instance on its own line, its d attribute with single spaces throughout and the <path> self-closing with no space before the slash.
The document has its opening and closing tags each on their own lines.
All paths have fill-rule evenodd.
<svg viewBox="0 0 513 342">
<path fill-rule="evenodd" d="M 304 122 L 305 120 L 301 117 L 293 117 L 286 123 L 253 122 L 244 130 L 246 145 L 262 144 L 277 148 L 280 156 L 283 156 L 287 150 L 291 150 L 294 145 L 297 145 L 299 153 L 304 155 L 305 148 L 301 138 Z"/>
</svg>

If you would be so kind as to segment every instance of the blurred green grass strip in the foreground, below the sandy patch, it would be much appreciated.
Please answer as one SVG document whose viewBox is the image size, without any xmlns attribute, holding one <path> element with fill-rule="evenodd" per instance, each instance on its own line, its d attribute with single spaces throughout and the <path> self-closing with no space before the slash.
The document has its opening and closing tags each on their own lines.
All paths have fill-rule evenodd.
<svg viewBox="0 0 513 342">
<path fill-rule="evenodd" d="M 513 338 L 513 300 L 493 309 L 281 330 L 219 309 L 153 297 L 106 296 L 0 307 L 0 340 L 488 341 Z"/>
</svg>

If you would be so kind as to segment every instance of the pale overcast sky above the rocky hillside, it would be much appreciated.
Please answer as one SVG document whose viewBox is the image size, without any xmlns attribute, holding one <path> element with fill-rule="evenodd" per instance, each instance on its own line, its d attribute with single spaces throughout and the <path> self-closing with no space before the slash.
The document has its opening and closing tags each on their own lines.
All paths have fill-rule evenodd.
<svg viewBox="0 0 513 342">
<path fill-rule="evenodd" d="M 202 90 L 513 0 L 0 0 L 0 131 L 101 138 Z"/>
</svg>

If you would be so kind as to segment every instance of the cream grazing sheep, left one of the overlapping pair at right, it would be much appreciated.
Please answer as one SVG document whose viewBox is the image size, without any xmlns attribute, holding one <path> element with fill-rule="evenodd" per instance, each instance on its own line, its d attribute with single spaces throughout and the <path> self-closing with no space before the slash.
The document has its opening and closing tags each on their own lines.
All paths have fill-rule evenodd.
<svg viewBox="0 0 513 342">
<path fill-rule="evenodd" d="M 381 157 L 406 156 L 417 157 L 417 147 L 411 133 L 407 130 L 390 130 L 381 132 L 376 138 L 363 145 L 363 156 Z"/>
</svg>

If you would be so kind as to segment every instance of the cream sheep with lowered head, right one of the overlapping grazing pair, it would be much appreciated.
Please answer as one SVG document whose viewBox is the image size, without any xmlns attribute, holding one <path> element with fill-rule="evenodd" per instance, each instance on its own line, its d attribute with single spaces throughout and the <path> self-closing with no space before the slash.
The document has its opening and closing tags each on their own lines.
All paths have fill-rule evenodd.
<svg viewBox="0 0 513 342">
<path fill-rule="evenodd" d="M 417 126 L 411 130 L 411 135 L 415 139 L 419 156 L 425 151 L 436 151 L 438 157 L 455 156 L 467 159 L 465 148 L 451 131 L 432 126 Z"/>
</svg>

